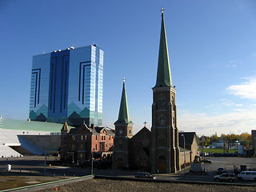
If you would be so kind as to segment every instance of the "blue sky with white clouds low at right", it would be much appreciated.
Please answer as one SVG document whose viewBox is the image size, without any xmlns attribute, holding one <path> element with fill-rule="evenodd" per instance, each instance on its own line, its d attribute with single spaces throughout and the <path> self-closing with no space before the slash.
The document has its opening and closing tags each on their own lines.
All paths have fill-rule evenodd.
<svg viewBox="0 0 256 192">
<path fill-rule="evenodd" d="M 256 130 L 256 1 L 0 0 L 0 115 L 26 119 L 32 57 L 74 46 L 104 50 L 103 126 L 114 127 L 126 78 L 134 134 L 148 122 L 165 9 L 178 129 Z"/>
</svg>

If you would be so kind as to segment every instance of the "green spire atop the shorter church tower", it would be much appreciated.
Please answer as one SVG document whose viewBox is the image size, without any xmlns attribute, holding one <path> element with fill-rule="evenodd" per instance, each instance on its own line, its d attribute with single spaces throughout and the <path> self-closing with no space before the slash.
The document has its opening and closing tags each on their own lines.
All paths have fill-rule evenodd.
<svg viewBox="0 0 256 192">
<path fill-rule="evenodd" d="M 125 84 L 126 78 L 123 78 L 123 84 L 122 84 L 122 98 L 120 103 L 120 109 L 119 109 L 119 116 L 118 121 L 115 123 L 130 123 L 129 118 L 129 111 L 128 111 L 128 104 L 127 104 L 127 98 L 126 98 L 126 84 Z"/>
</svg>

